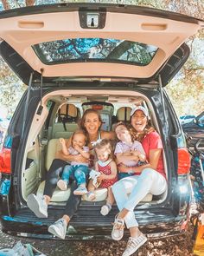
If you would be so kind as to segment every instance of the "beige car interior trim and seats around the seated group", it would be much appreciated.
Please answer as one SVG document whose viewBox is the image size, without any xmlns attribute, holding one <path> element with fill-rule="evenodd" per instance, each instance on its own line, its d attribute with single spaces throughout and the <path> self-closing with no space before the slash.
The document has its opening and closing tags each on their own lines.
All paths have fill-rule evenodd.
<svg viewBox="0 0 204 256">
<path fill-rule="evenodd" d="M 86 99 L 83 95 L 87 95 Z M 133 95 L 135 94 L 135 95 Z M 78 98 L 81 97 L 81 102 L 76 102 L 75 104 L 67 102 L 67 99 L 69 99 L 70 95 L 78 95 Z M 61 127 L 61 123 L 59 123 L 59 109 L 61 109 L 62 113 L 65 108 L 67 108 L 67 104 L 70 104 L 70 115 L 72 117 L 75 117 L 77 115 L 77 111 L 80 109 L 80 116 L 83 115 L 82 108 L 80 108 L 80 105 L 82 102 L 90 102 L 92 99 L 97 97 L 97 95 L 100 96 L 101 101 L 101 95 L 105 102 L 112 102 L 114 105 L 114 115 L 118 116 L 119 121 L 129 121 L 130 120 L 130 113 L 131 108 L 133 108 L 135 105 L 139 105 L 143 102 L 145 102 L 145 105 L 149 108 L 149 111 L 151 113 L 151 121 L 154 124 L 154 126 L 158 130 L 158 125 L 156 121 L 156 117 L 153 112 L 153 108 L 148 101 L 148 99 L 137 92 L 127 92 L 127 91 L 109 91 L 108 95 L 107 92 L 101 90 L 78 90 L 70 92 L 68 90 L 64 91 L 54 91 L 52 93 L 49 93 L 48 95 L 45 95 L 42 98 L 42 106 L 43 110 L 41 113 L 41 116 L 37 116 L 35 114 L 34 120 L 32 122 L 30 132 L 29 132 L 29 138 L 28 142 L 25 148 L 25 154 L 24 161 L 23 161 L 23 167 L 22 167 L 22 197 L 27 200 L 27 197 L 30 193 L 36 193 L 38 195 L 43 194 L 43 189 L 45 186 L 45 177 L 46 172 L 48 172 L 49 167 L 51 166 L 52 161 L 55 158 L 55 154 L 58 150 L 61 150 L 61 145 L 59 143 L 59 137 L 68 138 L 73 134 L 73 131 L 78 128 L 77 120 L 75 122 L 67 122 L 67 131 L 63 130 L 63 125 Z M 49 122 L 48 129 L 51 130 L 51 132 L 48 133 L 48 131 L 45 129 L 45 121 L 48 117 L 48 108 L 47 102 L 48 101 L 55 102 L 54 110 L 51 115 L 51 120 Z M 114 102 L 114 103 L 113 103 Z M 69 106 L 69 107 L 70 107 Z M 121 107 L 126 106 L 126 107 Z M 72 111 L 71 111 L 72 109 Z M 78 109 L 78 110 L 77 110 Z M 79 120 L 78 120 L 79 121 Z M 50 128 L 51 127 L 51 128 Z M 65 134 L 68 135 L 65 135 Z M 49 135 L 48 135 L 49 134 Z M 51 135 L 51 137 L 50 137 Z M 63 136 L 60 136 L 63 135 Z M 47 137 L 46 137 L 47 136 Z M 164 164 L 165 164 L 165 155 L 163 154 Z M 29 160 L 29 164 L 28 164 Z M 166 168 L 167 173 L 167 168 Z M 106 199 L 107 196 L 107 189 L 106 188 L 98 188 L 95 191 L 96 199 L 93 201 L 103 201 Z M 53 197 L 51 199 L 52 204 L 57 205 L 65 205 L 68 197 L 70 195 L 70 188 L 67 188 L 67 191 L 61 191 L 59 188 L 56 187 Z M 163 195 L 162 198 L 159 200 L 152 200 L 152 194 L 148 194 L 145 196 L 143 203 L 158 203 L 158 201 L 164 200 L 166 194 Z M 88 201 L 87 196 L 83 196 L 83 201 Z"/>
</svg>

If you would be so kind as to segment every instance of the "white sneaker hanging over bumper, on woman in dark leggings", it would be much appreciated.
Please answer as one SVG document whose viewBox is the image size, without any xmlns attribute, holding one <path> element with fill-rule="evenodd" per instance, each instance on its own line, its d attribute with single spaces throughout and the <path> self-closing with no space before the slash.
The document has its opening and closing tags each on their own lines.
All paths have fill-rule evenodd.
<svg viewBox="0 0 204 256">
<path fill-rule="evenodd" d="M 48 232 L 64 240 L 67 232 L 67 221 L 64 219 L 55 221 L 53 225 L 48 227 Z"/>
</svg>

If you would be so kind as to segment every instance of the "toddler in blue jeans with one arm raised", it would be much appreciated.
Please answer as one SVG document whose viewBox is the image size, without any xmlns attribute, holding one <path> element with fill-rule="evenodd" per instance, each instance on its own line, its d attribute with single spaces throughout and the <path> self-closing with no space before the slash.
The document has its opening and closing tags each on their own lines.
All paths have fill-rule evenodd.
<svg viewBox="0 0 204 256">
<path fill-rule="evenodd" d="M 72 146 L 67 148 L 66 141 L 60 139 L 62 153 L 65 155 L 77 155 L 81 154 L 87 160 L 89 159 L 89 148 L 86 147 L 86 135 L 84 131 L 78 130 L 73 133 L 72 136 Z M 73 191 L 73 194 L 86 194 L 86 176 L 89 173 L 88 170 L 88 161 L 87 162 L 78 162 L 71 161 L 71 165 L 64 167 L 61 180 L 57 182 L 57 186 L 61 190 L 67 190 L 67 185 L 69 183 L 69 178 L 75 178 L 79 187 Z"/>
</svg>

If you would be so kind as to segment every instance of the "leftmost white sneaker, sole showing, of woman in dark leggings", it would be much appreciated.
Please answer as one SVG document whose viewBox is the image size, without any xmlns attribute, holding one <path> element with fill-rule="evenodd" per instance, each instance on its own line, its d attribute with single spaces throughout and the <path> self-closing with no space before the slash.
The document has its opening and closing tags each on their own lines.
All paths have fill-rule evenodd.
<svg viewBox="0 0 204 256">
<path fill-rule="evenodd" d="M 29 194 L 27 206 L 38 218 L 48 218 L 48 204 L 43 196 L 37 197 L 35 194 Z"/>
</svg>

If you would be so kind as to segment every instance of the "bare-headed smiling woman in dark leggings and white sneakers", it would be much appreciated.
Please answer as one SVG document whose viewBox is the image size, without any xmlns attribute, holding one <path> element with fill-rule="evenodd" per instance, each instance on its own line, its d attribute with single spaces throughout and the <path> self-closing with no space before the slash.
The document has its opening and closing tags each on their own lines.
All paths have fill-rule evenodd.
<svg viewBox="0 0 204 256">
<path fill-rule="evenodd" d="M 100 129 L 101 123 L 101 117 L 96 110 L 86 109 L 80 121 L 80 128 L 83 129 L 86 133 L 88 147 L 90 150 L 92 150 L 92 142 L 94 141 L 101 139 L 114 140 L 115 138 L 113 132 L 106 132 Z M 71 141 L 72 138 L 67 140 L 67 148 L 71 146 Z M 57 152 L 56 158 L 48 170 L 43 196 L 40 198 L 35 194 L 29 194 L 28 197 L 27 205 L 37 217 L 48 218 L 48 204 L 52 198 L 52 195 L 54 194 L 57 181 L 59 180 L 59 177 L 61 177 L 63 167 L 67 166 L 67 161 L 87 162 L 86 158 L 81 154 L 66 155 L 63 154 L 62 151 Z M 93 162 L 91 161 L 90 167 L 92 167 L 92 163 Z M 53 225 L 48 227 L 48 232 L 53 233 L 55 236 L 61 239 L 65 239 L 67 224 L 72 219 L 73 214 L 77 211 L 81 200 L 80 195 L 73 194 L 73 191 L 77 188 L 77 183 L 74 178 L 70 180 L 70 182 L 71 194 L 67 200 L 64 215 L 60 220 L 57 220 Z"/>
</svg>

